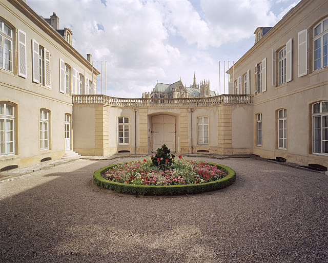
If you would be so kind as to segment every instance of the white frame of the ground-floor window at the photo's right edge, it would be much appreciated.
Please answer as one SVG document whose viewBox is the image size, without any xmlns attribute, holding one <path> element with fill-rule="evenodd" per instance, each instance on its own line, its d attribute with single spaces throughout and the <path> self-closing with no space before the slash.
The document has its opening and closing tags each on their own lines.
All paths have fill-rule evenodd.
<svg viewBox="0 0 328 263">
<path fill-rule="evenodd" d="M 326 111 L 323 111 L 323 103 L 326 104 Z M 319 106 L 319 112 L 314 112 L 314 108 L 315 108 L 315 105 L 320 105 Z M 316 102 L 316 103 L 313 103 L 312 106 L 311 106 L 311 119 L 312 119 L 312 154 L 316 154 L 316 155 L 328 155 L 328 137 L 327 138 L 323 138 L 323 135 L 325 133 L 323 133 L 323 129 L 326 130 L 326 134 L 328 134 L 328 101 L 319 101 L 319 102 Z M 323 127 L 323 117 L 326 118 L 326 126 Z M 315 119 L 319 119 L 319 127 L 315 127 L 316 126 L 316 121 Z M 319 129 L 319 139 L 316 138 L 316 129 L 318 130 Z M 318 134 L 318 133 L 317 133 Z M 320 143 L 320 152 L 316 152 L 316 141 L 319 141 Z M 326 143 L 326 151 L 327 152 L 323 152 L 323 142 Z"/>
</svg>

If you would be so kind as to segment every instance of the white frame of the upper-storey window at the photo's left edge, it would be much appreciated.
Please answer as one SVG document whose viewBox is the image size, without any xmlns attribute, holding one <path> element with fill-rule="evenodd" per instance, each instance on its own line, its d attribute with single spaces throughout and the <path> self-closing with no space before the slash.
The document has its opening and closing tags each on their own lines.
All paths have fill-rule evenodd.
<svg viewBox="0 0 328 263">
<path fill-rule="evenodd" d="M 0 68 L 13 73 L 14 72 L 14 69 L 13 69 L 13 67 L 14 67 L 14 63 L 13 63 L 13 58 L 14 58 L 14 56 L 13 56 L 13 52 L 14 52 L 13 51 L 14 34 L 13 33 L 14 33 L 15 30 L 8 23 L 4 22 L 4 20 L 2 18 L 0 18 L 0 24 L 1 24 L 0 49 L 2 51 L 2 57 L 0 57 L 2 59 L 2 62 L 0 60 L 0 63 L 2 63 L 2 64 L 0 64 Z M 8 34 L 5 33 L 5 26 L 10 30 L 11 35 L 8 35 Z M 9 69 L 7 69 L 5 67 L 6 66 L 6 64 L 5 64 L 5 49 L 6 49 L 5 48 L 5 40 L 10 42 L 10 50 L 7 49 L 10 52 L 10 56 L 9 56 L 10 58 L 9 58 L 9 60 L 7 60 L 7 61 L 9 61 Z"/>
</svg>

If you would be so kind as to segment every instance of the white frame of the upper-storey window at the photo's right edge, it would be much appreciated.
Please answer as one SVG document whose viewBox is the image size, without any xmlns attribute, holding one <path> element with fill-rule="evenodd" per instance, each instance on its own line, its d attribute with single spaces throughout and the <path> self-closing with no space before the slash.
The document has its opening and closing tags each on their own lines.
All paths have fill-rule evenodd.
<svg viewBox="0 0 328 263">
<path fill-rule="evenodd" d="M 326 23 L 326 25 L 325 25 Z M 320 33 L 317 33 L 315 32 L 315 30 L 318 28 L 318 27 L 321 27 L 321 32 Z M 324 26 L 326 26 L 327 28 L 324 30 Z M 319 70 L 321 68 L 324 68 L 324 67 L 327 67 L 328 66 L 328 52 L 326 52 L 325 55 L 323 55 L 323 49 L 324 49 L 324 46 L 326 49 L 328 49 L 328 17 L 326 16 L 325 18 L 323 18 L 319 23 L 317 23 L 314 27 L 313 27 L 313 37 L 312 37 L 312 47 L 313 47 L 313 62 L 312 62 L 312 66 L 313 66 L 313 71 L 316 71 L 316 70 Z M 327 43 L 324 45 L 323 44 L 323 39 L 324 37 L 327 38 Z M 320 39 L 320 47 L 318 47 L 317 49 L 315 49 L 315 42 L 318 41 Z M 315 59 L 315 54 L 316 54 L 316 51 L 319 50 L 320 52 L 320 58 L 319 59 Z M 325 57 L 326 59 L 326 64 L 323 65 L 323 58 Z M 320 67 L 316 68 L 316 61 L 320 60 Z"/>
</svg>

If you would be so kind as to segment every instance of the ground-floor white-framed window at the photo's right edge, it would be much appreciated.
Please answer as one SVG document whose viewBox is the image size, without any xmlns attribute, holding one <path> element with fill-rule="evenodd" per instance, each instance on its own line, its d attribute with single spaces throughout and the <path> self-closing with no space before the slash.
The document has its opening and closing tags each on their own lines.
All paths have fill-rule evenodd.
<svg viewBox="0 0 328 263">
<path fill-rule="evenodd" d="M 312 106 L 313 153 L 328 154 L 328 101 Z"/>
</svg>

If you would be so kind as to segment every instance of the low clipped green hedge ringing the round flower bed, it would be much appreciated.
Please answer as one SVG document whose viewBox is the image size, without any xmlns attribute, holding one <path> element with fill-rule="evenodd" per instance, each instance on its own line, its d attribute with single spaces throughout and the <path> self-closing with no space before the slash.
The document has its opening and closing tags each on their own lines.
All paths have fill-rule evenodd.
<svg viewBox="0 0 328 263">
<path fill-rule="evenodd" d="M 117 183 L 101 177 L 110 167 L 121 163 L 109 165 L 99 169 L 93 174 L 93 181 L 97 186 L 104 187 L 116 192 L 127 193 L 132 195 L 186 195 L 199 194 L 203 192 L 214 191 L 228 187 L 236 180 L 236 172 L 228 166 L 221 164 L 210 163 L 223 168 L 228 175 L 220 180 L 199 183 L 199 184 L 179 184 L 179 185 L 135 185 L 126 183 Z"/>
</svg>

